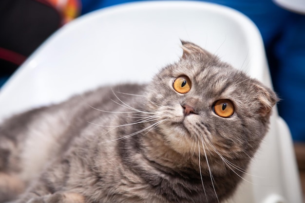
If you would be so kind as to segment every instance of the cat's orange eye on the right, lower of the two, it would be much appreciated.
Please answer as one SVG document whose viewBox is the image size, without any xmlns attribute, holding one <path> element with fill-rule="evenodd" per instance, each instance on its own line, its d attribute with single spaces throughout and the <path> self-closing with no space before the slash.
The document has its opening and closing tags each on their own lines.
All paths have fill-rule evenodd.
<svg viewBox="0 0 305 203">
<path fill-rule="evenodd" d="M 213 105 L 214 112 L 223 118 L 228 118 L 234 113 L 233 103 L 229 99 L 221 99 Z"/>
</svg>

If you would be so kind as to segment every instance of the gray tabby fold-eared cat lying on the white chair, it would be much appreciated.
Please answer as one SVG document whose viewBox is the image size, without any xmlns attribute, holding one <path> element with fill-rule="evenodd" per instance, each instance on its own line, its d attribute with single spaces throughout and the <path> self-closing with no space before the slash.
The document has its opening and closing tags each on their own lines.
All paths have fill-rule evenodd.
<svg viewBox="0 0 305 203">
<path fill-rule="evenodd" d="M 190 42 L 146 85 L 102 87 L 0 126 L 0 202 L 217 203 L 277 97 Z"/>
</svg>

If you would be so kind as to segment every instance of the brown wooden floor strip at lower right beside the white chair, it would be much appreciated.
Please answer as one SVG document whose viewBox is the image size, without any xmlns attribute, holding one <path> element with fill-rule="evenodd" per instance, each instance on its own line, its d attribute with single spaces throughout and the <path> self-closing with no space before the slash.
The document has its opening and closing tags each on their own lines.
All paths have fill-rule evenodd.
<svg viewBox="0 0 305 203">
<path fill-rule="evenodd" d="M 295 143 L 294 149 L 297 157 L 300 179 L 303 191 L 303 197 L 305 199 L 305 143 Z"/>
</svg>

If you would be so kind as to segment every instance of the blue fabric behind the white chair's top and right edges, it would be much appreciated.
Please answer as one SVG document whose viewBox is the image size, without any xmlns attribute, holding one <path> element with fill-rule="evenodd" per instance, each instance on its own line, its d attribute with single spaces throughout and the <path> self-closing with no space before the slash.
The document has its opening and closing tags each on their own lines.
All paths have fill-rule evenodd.
<svg viewBox="0 0 305 203">
<path fill-rule="evenodd" d="M 133 0 L 82 0 L 82 14 Z M 267 51 L 279 113 L 294 141 L 305 142 L 305 16 L 276 6 L 271 0 L 205 0 L 234 8 L 259 28 Z"/>
</svg>

